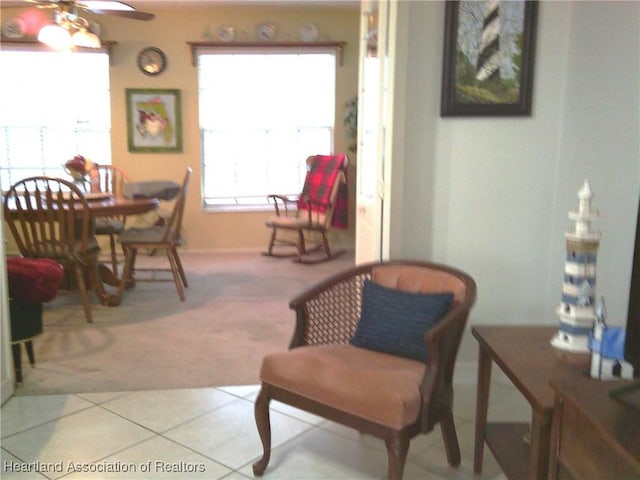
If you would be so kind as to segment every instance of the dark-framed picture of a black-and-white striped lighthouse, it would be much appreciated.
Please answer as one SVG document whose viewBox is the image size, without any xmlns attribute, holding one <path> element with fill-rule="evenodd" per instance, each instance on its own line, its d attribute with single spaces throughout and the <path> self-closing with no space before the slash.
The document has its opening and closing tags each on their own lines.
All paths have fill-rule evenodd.
<svg viewBox="0 0 640 480">
<path fill-rule="evenodd" d="M 537 0 L 446 2 L 440 114 L 531 115 Z"/>
</svg>

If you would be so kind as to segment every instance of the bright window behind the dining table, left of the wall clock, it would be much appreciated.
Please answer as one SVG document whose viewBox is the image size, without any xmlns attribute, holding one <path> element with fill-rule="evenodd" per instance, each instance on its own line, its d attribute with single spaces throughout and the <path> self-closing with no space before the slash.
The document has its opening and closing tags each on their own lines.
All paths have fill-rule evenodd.
<svg viewBox="0 0 640 480">
<path fill-rule="evenodd" d="M 62 164 L 77 154 L 111 163 L 106 52 L 2 50 L 0 71 L 2 190 L 34 175 L 66 178 Z"/>
</svg>

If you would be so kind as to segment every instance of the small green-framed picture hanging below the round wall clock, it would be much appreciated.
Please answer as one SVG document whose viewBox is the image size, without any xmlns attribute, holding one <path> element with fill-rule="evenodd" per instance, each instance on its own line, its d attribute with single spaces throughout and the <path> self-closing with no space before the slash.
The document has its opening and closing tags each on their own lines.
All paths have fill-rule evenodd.
<svg viewBox="0 0 640 480">
<path fill-rule="evenodd" d="M 180 90 L 128 88 L 126 94 L 129 151 L 181 152 Z"/>
</svg>

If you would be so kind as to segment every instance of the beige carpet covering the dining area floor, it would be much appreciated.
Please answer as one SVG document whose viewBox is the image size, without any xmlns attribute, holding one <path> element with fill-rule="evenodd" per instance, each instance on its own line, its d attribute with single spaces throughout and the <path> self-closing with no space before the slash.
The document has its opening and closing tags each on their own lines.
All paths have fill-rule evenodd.
<svg viewBox="0 0 640 480">
<path fill-rule="evenodd" d="M 79 297 L 45 306 L 34 340 L 36 367 L 23 351 L 18 395 L 152 390 L 258 383 L 262 357 L 286 349 L 291 298 L 353 255 L 299 265 L 250 253 L 187 253 L 187 300 L 170 283 L 139 283 L 119 307 L 94 306 L 86 323 Z M 146 262 L 159 259 L 141 258 Z"/>
</svg>

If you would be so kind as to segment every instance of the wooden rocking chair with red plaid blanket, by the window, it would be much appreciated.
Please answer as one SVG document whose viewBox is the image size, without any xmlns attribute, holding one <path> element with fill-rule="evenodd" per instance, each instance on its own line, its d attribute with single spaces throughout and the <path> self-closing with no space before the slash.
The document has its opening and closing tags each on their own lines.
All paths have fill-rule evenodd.
<svg viewBox="0 0 640 480">
<path fill-rule="evenodd" d="M 327 232 L 331 227 L 347 228 L 348 163 L 344 154 L 310 156 L 302 193 L 298 197 L 269 195 L 276 215 L 267 221 L 272 232 L 265 255 L 296 257 L 295 262 L 308 264 L 324 262 L 344 253 L 344 250 L 330 248 Z M 295 250 L 291 251 L 291 247 Z M 318 251 L 320 256 L 310 256 Z"/>
</svg>

